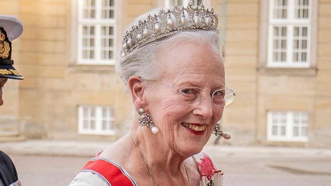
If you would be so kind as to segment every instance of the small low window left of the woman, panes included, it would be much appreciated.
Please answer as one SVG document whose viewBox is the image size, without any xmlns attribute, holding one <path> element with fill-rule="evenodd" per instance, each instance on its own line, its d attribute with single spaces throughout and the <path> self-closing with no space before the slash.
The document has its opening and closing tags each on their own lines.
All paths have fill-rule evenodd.
<svg viewBox="0 0 331 186">
<path fill-rule="evenodd" d="M 107 106 L 79 106 L 78 133 L 101 135 L 114 134 L 113 108 Z"/>
</svg>

